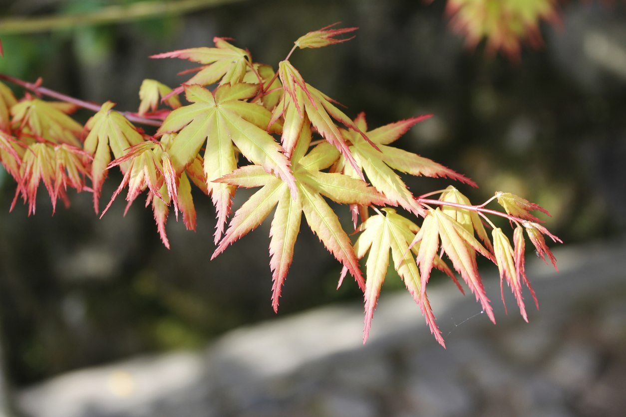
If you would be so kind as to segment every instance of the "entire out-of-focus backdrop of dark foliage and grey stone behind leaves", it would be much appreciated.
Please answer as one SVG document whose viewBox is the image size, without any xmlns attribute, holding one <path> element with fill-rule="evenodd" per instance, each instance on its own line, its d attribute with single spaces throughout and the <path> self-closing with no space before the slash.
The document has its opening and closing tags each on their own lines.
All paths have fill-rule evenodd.
<svg viewBox="0 0 626 417">
<path fill-rule="evenodd" d="M 71 18 L 129 3 L 140 2 L 4 0 L 0 73 L 136 111 L 142 79 L 176 86 L 187 79 L 178 71 L 193 66 L 152 54 L 224 36 L 275 67 L 308 31 L 358 26 L 352 41 L 297 51 L 292 63 L 349 116 L 364 111 L 370 127 L 433 113 L 399 146 L 474 179 L 479 189 L 459 186 L 473 203 L 509 191 L 548 209 L 546 226 L 565 242 L 556 252 L 562 273 L 532 269 L 545 278 L 535 286 L 541 311 L 525 324 L 509 300 L 511 314 L 500 308 L 496 327 L 471 296 L 461 300 L 434 278 L 434 313 L 451 332 L 444 351 L 419 308 L 394 294 L 403 284 L 390 271 L 374 340 L 362 348 L 361 294 L 352 282 L 336 290 L 341 267 L 306 227 L 276 317 L 269 222 L 209 262 L 215 211 L 201 193 L 197 231 L 170 218 L 168 251 L 140 203 L 123 217 L 116 201 L 99 220 L 83 193 L 51 218 L 41 194 L 36 216 L 19 205 L 9 213 L 15 184 L 2 171 L 6 415 L 623 415 L 623 2 L 560 3 L 560 21 L 542 23 L 544 43 L 523 48 L 519 61 L 464 46 L 443 0 L 156 1 L 154 11 L 165 3 L 173 11 L 122 13 L 106 24 Z M 69 18 L 42 31 L 3 27 L 3 19 L 41 16 Z M 119 181 L 112 172 L 103 199 Z M 418 195 L 448 181 L 408 184 Z M 248 195 L 238 191 L 235 206 Z M 348 229 L 347 208 L 338 210 Z M 485 266 L 499 305 L 497 273 Z"/>
</svg>

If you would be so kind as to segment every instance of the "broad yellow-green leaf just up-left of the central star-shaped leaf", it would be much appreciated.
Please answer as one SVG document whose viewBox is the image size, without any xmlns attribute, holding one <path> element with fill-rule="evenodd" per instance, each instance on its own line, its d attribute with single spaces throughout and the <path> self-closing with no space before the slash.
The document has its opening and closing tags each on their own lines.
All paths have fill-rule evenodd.
<svg viewBox="0 0 626 417">
<path fill-rule="evenodd" d="M 243 101 L 254 96 L 258 89 L 254 84 L 225 84 L 211 93 L 201 86 L 187 86 L 185 95 L 192 104 L 173 110 L 156 133 L 160 136 L 178 132 L 168 152 L 177 172 L 195 160 L 206 143 L 204 170 L 218 217 L 215 243 L 222 236 L 235 187 L 213 180 L 237 168 L 233 144 L 245 158 L 275 173 L 295 193 L 289 160 L 264 130 L 270 119 L 269 111 L 260 104 Z"/>
</svg>

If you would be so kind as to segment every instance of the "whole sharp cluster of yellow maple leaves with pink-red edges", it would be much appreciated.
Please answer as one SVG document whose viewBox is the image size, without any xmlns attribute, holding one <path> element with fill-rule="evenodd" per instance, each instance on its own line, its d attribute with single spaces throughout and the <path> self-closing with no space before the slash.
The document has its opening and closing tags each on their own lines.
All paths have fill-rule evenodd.
<svg viewBox="0 0 626 417">
<path fill-rule="evenodd" d="M 152 135 L 116 111 L 113 103 L 102 104 L 81 126 L 69 116 L 74 104 L 43 101 L 28 93 L 18 100 L 0 84 L 0 161 L 18 183 L 16 199 L 23 198 L 29 213 L 34 213 L 38 186 L 43 183 L 53 206 L 59 198 L 69 203 L 67 191 L 75 189 L 93 193 L 99 213 L 102 184 L 108 170 L 117 168 L 123 180 L 102 214 L 123 189 L 127 188 L 126 209 L 145 192 L 146 207 L 151 207 L 158 233 L 169 248 L 166 224 L 171 209 L 177 218 L 182 213 L 188 229 L 196 227 L 195 184 L 210 196 L 217 212 L 217 248 L 212 258 L 274 211 L 269 264 L 275 310 L 304 214 L 307 226 L 342 264 L 339 284 L 350 273 L 364 293 L 364 341 L 386 278 L 389 253 L 442 345 L 426 293 L 433 268 L 463 291 L 458 274 L 495 322 L 476 261 L 477 256 L 490 259 L 527 319 L 522 286 L 531 287 L 524 268 L 524 231 L 537 253 L 555 264 L 544 236 L 558 238 L 531 213 L 547 211 L 510 193 L 496 193 L 476 206 L 453 186 L 414 196 L 403 176 L 476 184 L 431 159 L 393 146 L 431 115 L 370 129 L 363 113 L 349 118 L 337 101 L 304 80 L 289 61 L 296 48 L 341 43 L 348 39 L 339 36 L 356 30 L 332 26 L 297 39 L 277 71 L 254 62 L 249 51 L 226 38 L 213 39 L 210 48 L 153 56 L 187 59 L 201 66 L 183 71 L 194 74 L 173 89 L 155 80 L 141 84 L 135 116 L 158 124 Z M 36 86 L 33 90 L 38 91 Z M 186 103 L 181 103 L 179 94 L 184 94 Z M 233 196 L 242 187 L 259 189 L 231 216 Z M 434 195 L 439 198 L 428 198 Z M 491 201 L 503 211 L 486 208 Z M 360 233 L 354 243 L 337 214 L 342 211 L 352 213 L 355 233 Z M 488 215 L 510 221 L 513 245 Z M 359 259 L 366 256 L 363 275 Z"/>
</svg>

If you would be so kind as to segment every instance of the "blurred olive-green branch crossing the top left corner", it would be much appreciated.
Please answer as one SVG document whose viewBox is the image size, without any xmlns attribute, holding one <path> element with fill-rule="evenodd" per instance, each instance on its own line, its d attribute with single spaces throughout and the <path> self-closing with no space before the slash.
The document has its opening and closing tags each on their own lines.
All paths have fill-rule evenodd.
<svg viewBox="0 0 626 417">
<path fill-rule="evenodd" d="M 44 18 L 9 18 L 0 20 L 0 33 L 41 33 L 76 26 L 126 23 L 155 16 L 184 14 L 235 1 L 241 0 L 142 1 L 127 6 L 106 6 L 92 13 Z"/>
</svg>

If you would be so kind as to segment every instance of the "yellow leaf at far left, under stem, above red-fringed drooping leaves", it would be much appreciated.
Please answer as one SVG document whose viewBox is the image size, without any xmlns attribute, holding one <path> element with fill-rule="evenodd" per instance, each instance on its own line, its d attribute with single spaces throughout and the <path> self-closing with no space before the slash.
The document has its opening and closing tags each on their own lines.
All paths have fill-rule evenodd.
<svg viewBox="0 0 626 417">
<path fill-rule="evenodd" d="M 26 143 L 33 143 L 34 139 L 80 147 L 78 136 L 83 126 L 66 114 L 75 109 L 76 106 L 69 103 L 25 99 L 11 107 L 11 124 L 13 129 L 19 131 L 19 136 L 25 138 Z"/>
</svg>

